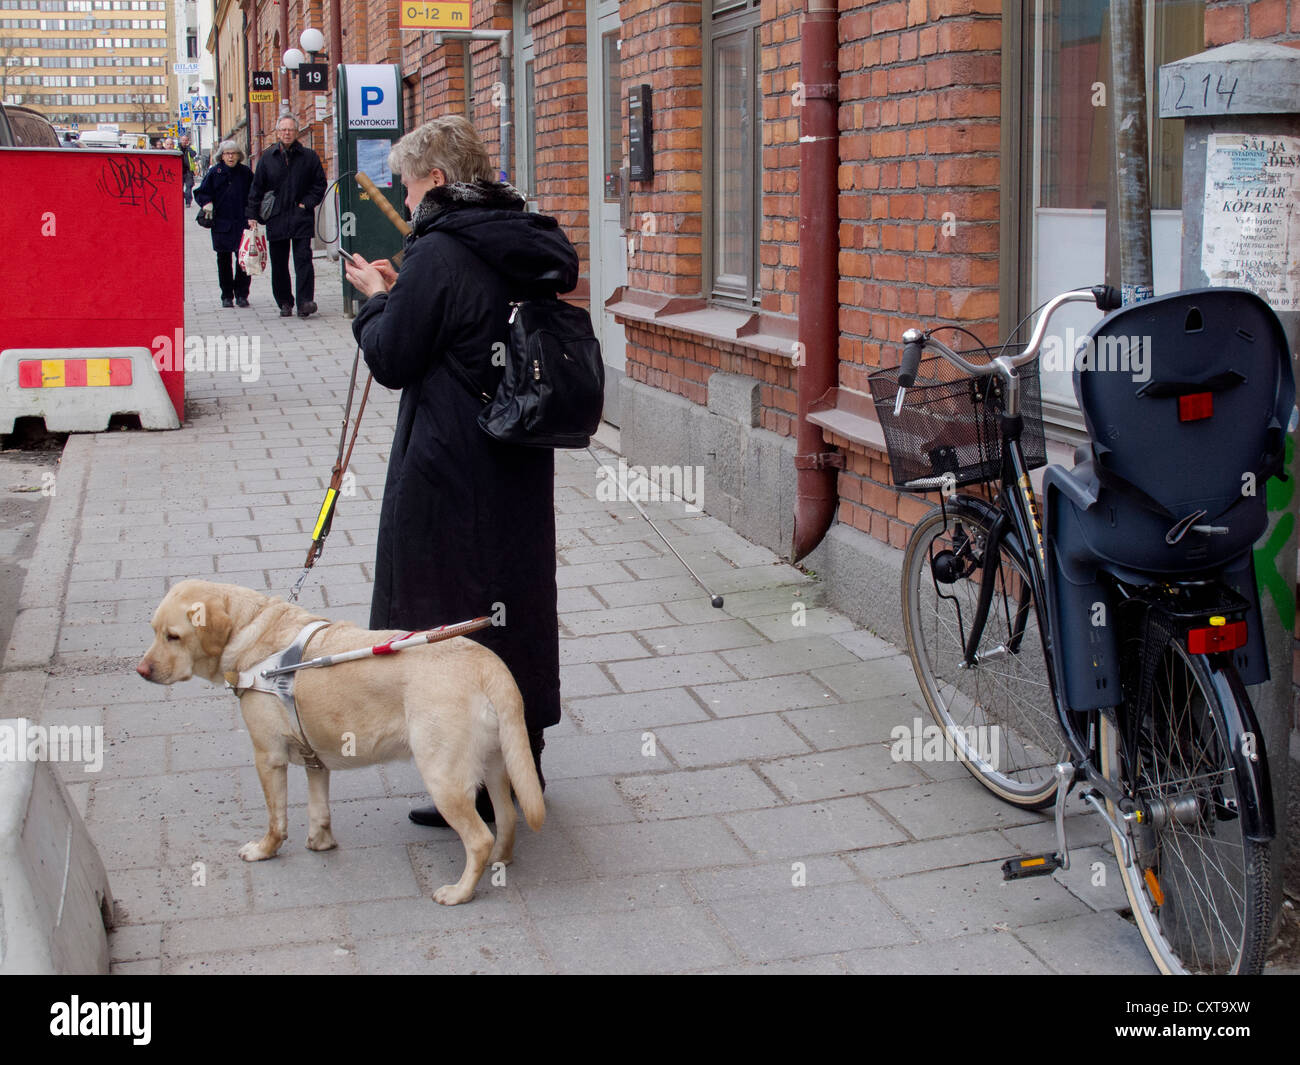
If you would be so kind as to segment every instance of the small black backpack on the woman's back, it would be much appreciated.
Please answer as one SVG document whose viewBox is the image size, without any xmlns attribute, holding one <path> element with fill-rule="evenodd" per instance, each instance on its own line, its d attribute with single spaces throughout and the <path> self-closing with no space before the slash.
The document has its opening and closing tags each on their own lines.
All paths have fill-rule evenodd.
<svg viewBox="0 0 1300 1065">
<path fill-rule="evenodd" d="M 504 373 L 478 415 L 482 430 L 503 443 L 586 447 L 603 407 L 604 363 L 592 316 L 554 296 L 512 302 Z"/>
</svg>

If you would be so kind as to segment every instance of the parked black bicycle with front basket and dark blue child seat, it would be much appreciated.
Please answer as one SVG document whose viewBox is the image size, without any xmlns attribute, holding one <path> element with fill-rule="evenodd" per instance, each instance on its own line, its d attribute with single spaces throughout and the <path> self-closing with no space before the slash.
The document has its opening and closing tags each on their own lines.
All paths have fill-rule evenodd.
<svg viewBox="0 0 1300 1065">
<path fill-rule="evenodd" d="M 1044 514 L 1036 359 L 1052 315 L 1082 300 L 1115 311 L 1084 358 L 1105 347 L 1117 365 L 1075 356 L 1089 443 L 1045 471 Z M 967 770 L 1004 801 L 1054 806 L 1057 849 L 1008 860 L 1006 879 L 1069 869 L 1079 785 L 1161 971 L 1254 973 L 1274 818 L 1244 687 L 1268 679 L 1251 547 L 1296 424 L 1290 354 L 1244 290 L 1117 308 L 1106 286 L 1063 293 L 1027 345 L 970 358 L 909 329 L 901 365 L 871 376 L 894 484 L 940 492 L 905 550 L 907 653 Z M 1143 345 L 1147 380 L 1124 380 Z M 1197 456 L 1191 484 L 1179 455 Z M 957 490 L 975 484 L 991 497 Z"/>
</svg>

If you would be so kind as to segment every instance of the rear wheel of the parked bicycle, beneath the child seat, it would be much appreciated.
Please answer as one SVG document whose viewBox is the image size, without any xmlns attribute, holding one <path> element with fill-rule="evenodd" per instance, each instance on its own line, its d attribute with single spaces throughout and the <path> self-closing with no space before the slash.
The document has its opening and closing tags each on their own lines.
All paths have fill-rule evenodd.
<svg viewBox="0 0 1300 1065">
<path fill-rule="evenodd" d="M 1145 706 L 1126 688 L 1119 724 L 1101 715 L 1101 771 L 1141 813 L 1112 817 L 1134 919 L 1162 973 L 1258 973 L 1269 926 L 1269 848 L 1242 831 L 1231 735 L 1232 687 L 1216 684 L 1202 655 L 1165 640 Z M 1126 720 L 1127 715 L 1135 720 Z M 1124 741 L 1124 736 L 1130 736 Z"/>
</svg>

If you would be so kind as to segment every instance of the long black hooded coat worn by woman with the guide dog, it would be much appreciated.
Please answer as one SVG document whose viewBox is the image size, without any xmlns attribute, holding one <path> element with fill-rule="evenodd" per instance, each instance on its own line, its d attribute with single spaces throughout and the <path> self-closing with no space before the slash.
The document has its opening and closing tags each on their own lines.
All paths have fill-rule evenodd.
<svg viewBox="0 0 1300 1065">
<path fill-rule="evenodd" d="M 489 437 L 482 401 L 448 367 L 450 356 L 494 390 L 508 299 L 577 283 L 577 254 L 555 220 L 521 205 L 494 182 L 430 190 L 396 283 L 365 302 L 352 332 L 374 380 L 402 389 L 370 627 L 503 612 L 504 624 L 471 638 L 511 668 L 534 732 L 560 719 L 554 453 Z"/>
</svg>

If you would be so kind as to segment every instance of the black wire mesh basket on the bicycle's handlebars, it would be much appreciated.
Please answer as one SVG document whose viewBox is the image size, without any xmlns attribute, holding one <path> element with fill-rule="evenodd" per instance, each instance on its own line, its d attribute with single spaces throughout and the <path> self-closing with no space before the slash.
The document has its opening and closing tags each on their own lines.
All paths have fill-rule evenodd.
<svg viewBox="0 0 1300 1065">
<path fill-rule="evenodd" d="M 1008 347 L 1002 354 L 1018 350 Z M 963 355 L 968 362 L 992 358 L 987 348 Z M 916 384 L 907 389 L 897 417 L 898 368 L 876 371 L 868 380 L 897 488 L 933 492 L 944 486 L 948 475 L 954 488 L 1001 475 L 1004 386 L 998 377 L 967 377 L 941 355 L 922 359 Z M 1020 367 L 1020 450 L 1027 467 L 1036 469 L 1048 460 L 1037 359 Z"/>
</svg>

